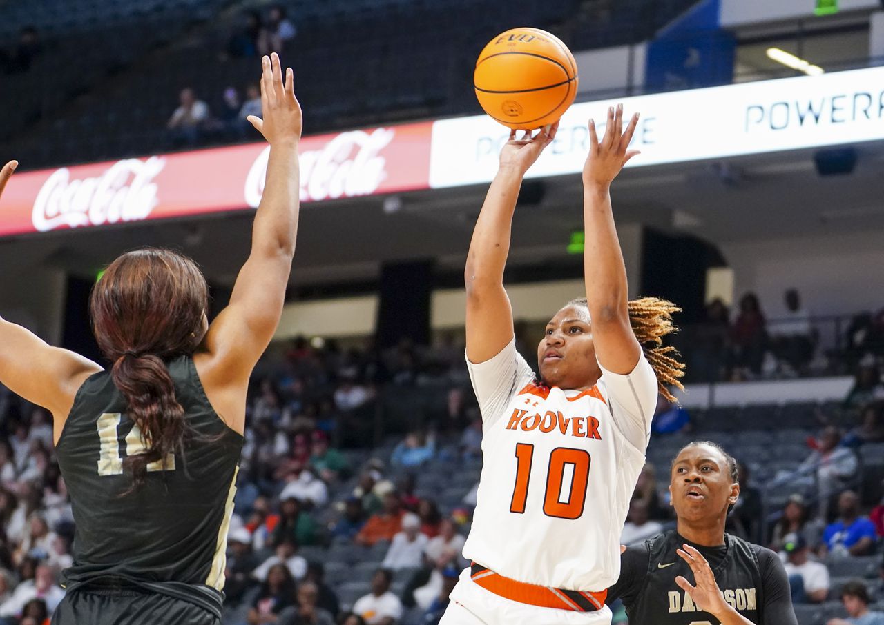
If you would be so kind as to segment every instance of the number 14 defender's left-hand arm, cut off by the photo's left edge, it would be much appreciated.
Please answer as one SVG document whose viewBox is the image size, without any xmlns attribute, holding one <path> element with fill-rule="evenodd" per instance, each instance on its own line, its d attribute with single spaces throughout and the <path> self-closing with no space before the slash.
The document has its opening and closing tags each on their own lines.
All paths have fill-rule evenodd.
<svg viewBox="0 0 884 625">
<path fill-rule="evenodd" d="M 0 196 L 18 166 L 18 161 L 10 161 L 0 169 Z M 50 410 L 57 424 L 64 423 L 83 380 L 101 370 L 88 358 L 53 347 L 27 328 L 0 317 L 0 384 Z"/>
</svg>

